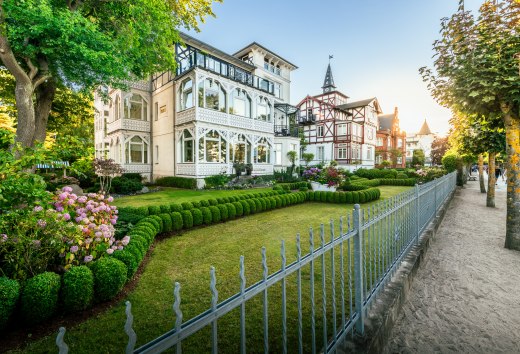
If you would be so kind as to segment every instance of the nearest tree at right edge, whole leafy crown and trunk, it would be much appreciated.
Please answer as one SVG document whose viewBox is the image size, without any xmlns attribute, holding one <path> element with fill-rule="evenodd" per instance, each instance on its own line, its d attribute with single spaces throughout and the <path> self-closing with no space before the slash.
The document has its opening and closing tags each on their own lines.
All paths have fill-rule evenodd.
<svg viewBox="0 0 520 354">
<path fill-rule="evenodd" d="M 421 68 L 439 103 L 469 114 L 501 114 L 507 144 L 505 247 L 520 250 L 520 2 L 484 1 L 479 16 L 459 10 L 441 21 L 434 69 Z"/>
</svg>

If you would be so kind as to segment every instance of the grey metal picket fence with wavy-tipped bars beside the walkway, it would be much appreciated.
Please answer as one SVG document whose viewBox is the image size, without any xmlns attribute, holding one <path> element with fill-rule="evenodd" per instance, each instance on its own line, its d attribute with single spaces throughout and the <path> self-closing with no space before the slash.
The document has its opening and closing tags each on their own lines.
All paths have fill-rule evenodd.
<svg viewBox="0 0 520 354">
<path fill-rule="evenodd" d="M 432 182 L 416 185 L 409 191 L 365 209 L 356 204 L 352 215 L 340 219 L 338 236 L 333 221 L 330 223 L 330 236 L 327 239 L 324 225 L 319 230 L 319 241 L 315 239 L 311 228 L 309 252 L 305 255 L 302 255 L 302 242 L 300 235 L 297 235 L 296 260 L 290 264 L 287 264 L 285 242 L 282 241 L 281 267 L 273 274 L 269 274 L 266 251 L 262 248 L 262 280 L 248 287 L 244 256 L 241 256 L 240 291 L 221 302 L 216 287 L 215 269 L 212 267 L 209 284 L 212 294 L 211 308 L 185 322 L 181 310 L 181 285 L 175 283 L 174 328 L 139 348 L 135 348 L 137 337 L 132 329 L 131 304 L 127 301 L 124 328 L 128 335 L 126 353 L 160 353 L 168 348 L 181 353 L 183 340 L 205 327 L 210 327 L 211 352 L 217 353 L 218 320 L 235 309 L 240 312 L 240 352 L 245 353 L 248 348 L 246 303 L 256 296 L 260 297 L 263 307 L 261 336 L 265 353 L 270 350 L 287 353 L 288 347 L 291 352 L 298 353 L 335 352 L 347 335 L 354 331 L 364 333 L 364 320 L 371 304 L 399 267 L 403 257 L 418 243 L 420 235 L 435 217 L 437 210 L 455 189 L 455 182 L 456 174 L 451 173 Z M 316 245 L 318 242 L 319 245 Z M 288 281 L 294 278 L 296 290 L 289 292 Z M 281 347 L 273 349 L 270 348 L 272 337 L 270 338 L 269 324 L 278 318 L 269 318 L 268 295 L 275 284 L 280 286 L 281 292 L 281 333 L 272 337 L 277 340 L 281 337 Z M 288 298 L 291 304 L 296 303 L 294 308 L 288 308 Z M 291 336 L 291 340 L 288 340 L 288 310 L 297 317 L 297 329 L 291 328 L 297 332 Z M 60 353 L 68 352 L 63 340 L 64 334 L 65 329 L 60 328 L 56 338 Z M 254 348 L 254 352 L 259 351 L 262 351 L 261 348 Z"/>
</svg>

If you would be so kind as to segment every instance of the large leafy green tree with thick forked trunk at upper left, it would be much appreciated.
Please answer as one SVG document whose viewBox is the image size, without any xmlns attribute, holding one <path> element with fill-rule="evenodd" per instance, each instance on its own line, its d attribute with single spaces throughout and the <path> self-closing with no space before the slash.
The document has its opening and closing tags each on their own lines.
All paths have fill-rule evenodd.
<svg viewBox="0 0 520 354">
<path fill-rule="evenodd" d="M 173 69 L 176 27 L 214 0 L 0 0 L 0 60 L 16 80 L 16 140 L 43 141 L 59 84 L 90 91 Z M 220 1 L 220 0 L 215 0 Z"/>
</svg>

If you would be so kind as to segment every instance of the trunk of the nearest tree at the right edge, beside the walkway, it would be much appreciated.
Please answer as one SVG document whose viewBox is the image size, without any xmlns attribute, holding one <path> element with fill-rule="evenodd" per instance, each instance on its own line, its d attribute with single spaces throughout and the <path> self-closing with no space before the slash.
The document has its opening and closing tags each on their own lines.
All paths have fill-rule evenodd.
<svg viewBox="0 0 520 354">
<path fill-rule="evenodd" d="M 507 219 L 505 247 L 520 251 L 520 117 L 501 104 L 506 126 Z"/>
</svg>

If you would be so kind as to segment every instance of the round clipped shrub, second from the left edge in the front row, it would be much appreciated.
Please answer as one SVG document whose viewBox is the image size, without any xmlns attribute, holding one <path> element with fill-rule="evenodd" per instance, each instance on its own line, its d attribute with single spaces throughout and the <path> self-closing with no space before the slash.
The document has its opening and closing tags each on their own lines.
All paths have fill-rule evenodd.
<svg viewBox="0 0 520 354">
<path fill-rule="evenodd" d="M 27 323 L 39 323 L 52 316 L 58 305 L 60 285 L 60 276 L 52 272 L 38 274 L 25 282 L 21 312 Z"/>
</svg>

